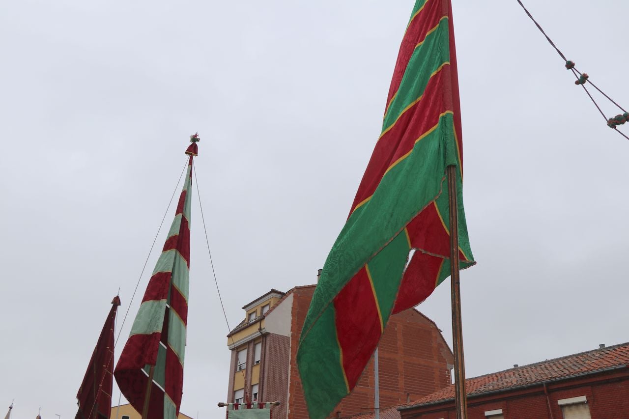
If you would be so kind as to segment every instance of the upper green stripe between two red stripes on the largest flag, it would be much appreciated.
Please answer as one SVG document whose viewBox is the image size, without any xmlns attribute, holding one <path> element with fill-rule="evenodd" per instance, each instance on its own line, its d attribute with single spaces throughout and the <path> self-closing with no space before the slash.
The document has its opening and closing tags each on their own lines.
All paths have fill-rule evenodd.
<svg viewBox="0 0 629 419">
<path fill-rule="evenodd" d="M 437 30 L 426 36 L 420 47 L 415 48 L 404 70 L 398 94 L 391 102 L 382 122 L 382 131 L 392 125 L 402 111 L 424 93 L 431 74 L 450 60 L 449 44 L 448 20 L 444 19 L 437 26 Z"/>
</svg>

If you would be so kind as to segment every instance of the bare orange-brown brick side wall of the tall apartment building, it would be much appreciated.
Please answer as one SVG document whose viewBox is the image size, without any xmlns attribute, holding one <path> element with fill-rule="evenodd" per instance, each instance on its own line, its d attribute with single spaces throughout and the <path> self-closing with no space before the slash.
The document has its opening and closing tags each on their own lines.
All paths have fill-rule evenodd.
<svg viewBox="0 0 629 419">
<path fill-rule="evenodd" d="M 308 419 L 303 389 L 296 365 L 297 346 L 301 327 L 314 292 L 312 288 L 294 289 L 291 324 L 291 391 L 289 418 Z M 392 316 L 382 337 L 379 350 L 380 405 L 381 408 L 406 403 L 427 396 L 450 384 L 448 364 L 452 353 L 439 330 L 415 310 L 406 310 Z M 341 416 L 373 410 L 374 368 L 373 359 L 360 378 L 356 388 L 335 408 Z M 333 416 L 336 416 L 334 413 Z M 282 416 L 283 417 L 283 416 Z"/>
</svg>

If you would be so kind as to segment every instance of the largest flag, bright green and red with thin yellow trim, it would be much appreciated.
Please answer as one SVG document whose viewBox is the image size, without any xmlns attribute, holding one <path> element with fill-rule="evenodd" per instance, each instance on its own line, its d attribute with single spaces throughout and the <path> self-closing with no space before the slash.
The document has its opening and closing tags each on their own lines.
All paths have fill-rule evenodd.
<svg viewBox="0 0 629 419">
<path fill-rule="evenodd" d="M 462 199 L 451 16 L 450 0 L 416 1 L 381 136 L 321 272 L 297 355 L 311 419 L 326 418 L 356 386 L 389 316 L 421 303 L 450 276 L 448 165 L 457 167 L 460 264 L 475 263 Z"/>
</svg>

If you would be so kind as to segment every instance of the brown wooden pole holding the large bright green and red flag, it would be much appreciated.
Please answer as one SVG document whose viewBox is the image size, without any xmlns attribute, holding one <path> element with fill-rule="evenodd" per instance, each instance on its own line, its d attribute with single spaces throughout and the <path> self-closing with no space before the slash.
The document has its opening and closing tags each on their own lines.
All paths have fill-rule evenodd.
<svg viewBox="0 0 629 419">
<path fill-rule="evenodd" d="M 457 167 L 448 166 L 448 198 L 450 207 L 450 284 L 452 286 L 452 341 L 454 346 L 455 402 L 457 419 L 467 419 L 465 395 L 465 359 L 461 321 L 461 289 L 459 282 L 459 211 L 457 203 Z"/>
</svg>

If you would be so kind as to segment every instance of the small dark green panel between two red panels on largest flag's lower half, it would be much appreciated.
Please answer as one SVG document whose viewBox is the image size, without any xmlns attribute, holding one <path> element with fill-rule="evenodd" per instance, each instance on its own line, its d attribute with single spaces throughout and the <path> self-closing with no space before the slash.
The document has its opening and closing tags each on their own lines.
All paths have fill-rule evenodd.
<svg viewBox="0 0 629 419">
<path fill-rule="evenodd" d="M 371 279 L 374 282 L 384 325 L 389 320 L 389 315 L 391 315 L 395 299 L 398 296 L 402 272 L 410 250 L 406 233 L 401 232 L 367 264 Z"/>
</svg>

